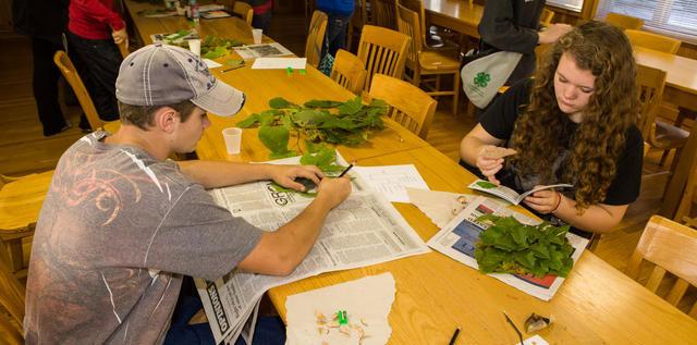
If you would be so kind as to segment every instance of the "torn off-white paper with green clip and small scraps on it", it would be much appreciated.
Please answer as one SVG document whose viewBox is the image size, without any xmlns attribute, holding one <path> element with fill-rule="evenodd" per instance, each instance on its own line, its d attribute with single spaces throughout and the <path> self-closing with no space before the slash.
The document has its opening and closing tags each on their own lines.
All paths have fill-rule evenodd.
<svg viewBox="0 0 697 345">
<path fill-rule="evenodd" d="M 394 278 L 387 272 L 289 296 L 285 344 L 387 344 L 392 334 L 388 316 L 394 294 Z M 318 313 L 331 323 L 338 310 L 346 311 L 345 333 L 339 328 L 318 324 Z M 364 332 L 363 341 L 360 332 Z"/>
</svg>

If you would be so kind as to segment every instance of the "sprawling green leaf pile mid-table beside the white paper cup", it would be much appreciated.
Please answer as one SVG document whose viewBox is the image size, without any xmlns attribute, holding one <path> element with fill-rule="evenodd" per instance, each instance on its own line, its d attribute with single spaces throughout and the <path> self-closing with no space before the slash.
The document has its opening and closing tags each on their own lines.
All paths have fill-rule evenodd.
<svg viewBox="0 0 697 345">
<path fill-rule="evenodd" d="M 360 97 L 338 102 L 310 100 L 302 107 L 281 97 L 269 101 L 271 109 L 254 113 L 237 123 L 241 128 L 259 125 L 259 139 L 271 150 L 270 158 L 297 156 L 288 149 L 291 132 L 311 143 L 354 146 L 368 139 L 371 131 L 382 130 L 381 116 L 388 104 L 379 99 L 364 104 Z"/>
</svg>

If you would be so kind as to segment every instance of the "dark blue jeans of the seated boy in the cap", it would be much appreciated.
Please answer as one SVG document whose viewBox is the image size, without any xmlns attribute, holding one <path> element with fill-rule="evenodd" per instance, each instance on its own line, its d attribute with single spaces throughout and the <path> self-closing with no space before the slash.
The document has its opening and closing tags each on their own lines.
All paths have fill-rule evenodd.
<svg viewBox="0 0 697 345">
<path fill-rule="evenodd" d="M 189 276 L 185 276 L 164 344 L 216 344 L 213 333 L 208 323 L 188 324 L 188 320 L 203 307 L 204 305 L 200 301 L 198 292 L 196 292 L 194 281 Z M 285 344 L 285 325 L 283 321 L 279 317 L 259 317 L 254 330 L 254 344 Z M 246 345 L 246 343 L 241 336 L 235 342 L 235 345 Z"/>
</svg>

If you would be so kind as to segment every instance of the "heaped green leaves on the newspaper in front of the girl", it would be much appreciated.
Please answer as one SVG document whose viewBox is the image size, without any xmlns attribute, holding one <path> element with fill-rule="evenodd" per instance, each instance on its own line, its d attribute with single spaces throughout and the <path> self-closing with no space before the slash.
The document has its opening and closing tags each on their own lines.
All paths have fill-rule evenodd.
<svg viewBox="0 0 697 345">
<path fill-rule="evenodd" d="M 484 273 L 547 274 L 566 276 L 574 264 L 574 248 L 566 238 L 568 225 L 549 222 L 525 225 L 513 217 L 487 214 L 477 221 L 490 223 L 479 234 L 475 258 Z"/>
</svg>

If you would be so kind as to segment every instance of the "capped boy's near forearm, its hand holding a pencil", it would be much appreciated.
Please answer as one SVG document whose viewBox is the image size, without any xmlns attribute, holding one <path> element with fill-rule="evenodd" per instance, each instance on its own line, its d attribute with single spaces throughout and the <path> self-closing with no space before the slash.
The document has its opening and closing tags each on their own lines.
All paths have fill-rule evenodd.
<svg viewBox="0 0 697 345">
<path fill-rule="evenodd" d="M 256 273 L 288 275 L 303 261 L 329 211 L 351 193 L 347 177 L 323 178 L 315 200 L 297 217 L 272 233 L 264 233 L 256 247 L 237 267 Z"/>
</svg>

